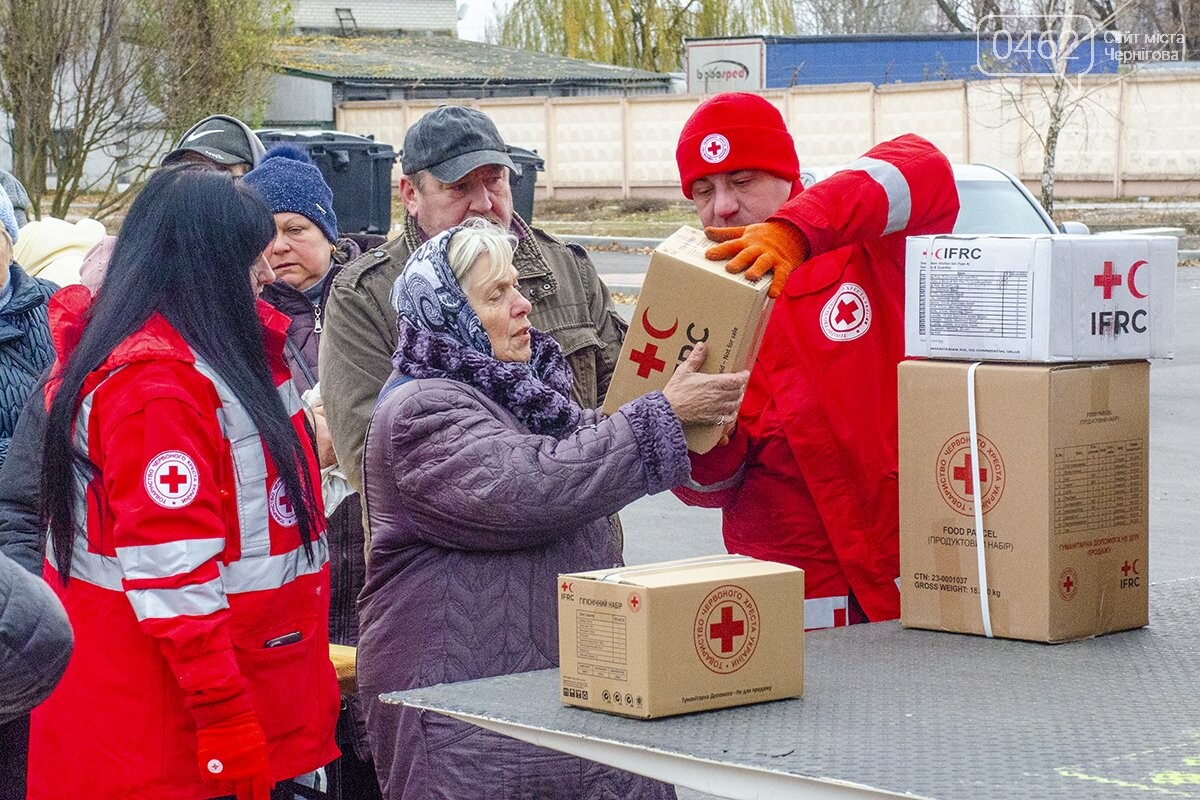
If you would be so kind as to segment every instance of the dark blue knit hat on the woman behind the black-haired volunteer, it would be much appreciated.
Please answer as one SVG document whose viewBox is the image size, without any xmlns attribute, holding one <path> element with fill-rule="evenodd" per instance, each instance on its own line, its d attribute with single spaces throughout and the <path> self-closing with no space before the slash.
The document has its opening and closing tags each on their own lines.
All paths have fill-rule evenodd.
<svg viewBox="0 0 1200 800">
<path fill-rule="evenodd" d="M 304 150 L 286 144 L 271 148 L 241 180 L 258 190 L 271 213 L 306 216 L 325 239 L 337 241 L 334 191 Z"/>
</svg>

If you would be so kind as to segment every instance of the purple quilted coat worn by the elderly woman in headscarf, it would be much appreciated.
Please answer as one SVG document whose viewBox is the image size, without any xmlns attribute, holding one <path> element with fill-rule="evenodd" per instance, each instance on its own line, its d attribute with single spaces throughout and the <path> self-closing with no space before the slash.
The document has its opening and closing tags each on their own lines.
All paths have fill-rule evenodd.
<svg viewBox="0 0 1200 800">
<path fill-rule="evenodd" d="M 670 786 L 407 706 L 380 692 L 558 663 L 559 572 L 622 563 L 607 516 L 686 480 L 683 429 L 655 392 L 563 438 L 484 392 L 421 378 L 385 392 L 365 452 L 371 554 L 360 696 L 391 800 L 636 800 Z"/>
</svg>

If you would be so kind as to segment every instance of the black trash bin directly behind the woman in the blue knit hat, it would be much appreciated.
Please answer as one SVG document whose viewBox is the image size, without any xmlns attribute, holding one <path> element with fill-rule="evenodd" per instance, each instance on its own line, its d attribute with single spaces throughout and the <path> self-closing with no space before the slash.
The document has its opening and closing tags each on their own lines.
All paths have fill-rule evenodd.
<svg viewBox="0 0 1200 800">
<path fill-rule="evenodd" d="M 371 137 L 341 131 L 256 131 L 270 150 L 290 144 L 308 157 L 334 190 L 334 213 L 341 234 L 391 230 L 391 166 L 396 151 Z"/>
</svg>

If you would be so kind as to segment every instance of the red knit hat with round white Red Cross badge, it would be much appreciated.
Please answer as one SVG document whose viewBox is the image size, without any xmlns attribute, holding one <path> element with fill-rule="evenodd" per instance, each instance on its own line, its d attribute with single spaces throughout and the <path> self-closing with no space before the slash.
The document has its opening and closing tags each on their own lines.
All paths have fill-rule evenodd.
<svg viewBox="0 0 1200 800">
<path fill-rule="evenodd" d="M 738 169 L 761 169 L 785 180 L 800 176 L 796 143 L 784 115 L 758 95 L 732 91 L 701 103 L 676 146 L 683 194 L 691 199 L 697 178 Z"/>
</svg>

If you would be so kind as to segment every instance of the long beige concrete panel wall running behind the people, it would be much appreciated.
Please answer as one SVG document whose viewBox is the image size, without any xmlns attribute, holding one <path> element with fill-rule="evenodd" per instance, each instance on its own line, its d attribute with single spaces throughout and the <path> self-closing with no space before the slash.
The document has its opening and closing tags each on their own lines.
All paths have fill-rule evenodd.
<svg viewBox="0 0 1200 800">
<path fill-rule="evenodd" d="M 762 92 L 796 139 L 802 164 L 853 161 L 874 143 L 919 133 L 955 162 L 1001 167 L 1036 186 L 1049 84 L 1037 79 L 838 84 Z M 1200 196 L 1200 76 L 1134 73 L 1079 79 L 1060 136 L 1058 197 Z M 679 197 L 674 146 L 703 100 L 652 97 L 482 100 L 510 144 L 546 160 L 547 197 Z M 337 128 L 400 146 L 437 101 L 346 103 Z M 398 180 L 397 172 L 394 179 Z"/>
</svg>

